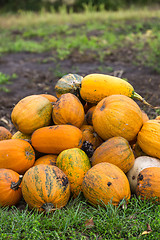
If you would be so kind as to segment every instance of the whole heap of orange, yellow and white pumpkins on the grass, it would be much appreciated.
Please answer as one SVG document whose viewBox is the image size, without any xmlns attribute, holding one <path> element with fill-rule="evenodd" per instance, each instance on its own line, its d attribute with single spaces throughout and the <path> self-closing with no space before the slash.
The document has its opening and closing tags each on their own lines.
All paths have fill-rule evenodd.
<svg viewBox="0 0 160 240">
<path fill-rule="evenodd" d="M 133 87 L 105 74 L 67 74 L 55 92 L 21 99 L 14 133 L 0 127 L 0 206 L 23 197 L 51 211 L 81 192 L 94 206 L 118 206 L 131 193 L 159 201 L 160 120 L 149 120 Z"/>
</svg>

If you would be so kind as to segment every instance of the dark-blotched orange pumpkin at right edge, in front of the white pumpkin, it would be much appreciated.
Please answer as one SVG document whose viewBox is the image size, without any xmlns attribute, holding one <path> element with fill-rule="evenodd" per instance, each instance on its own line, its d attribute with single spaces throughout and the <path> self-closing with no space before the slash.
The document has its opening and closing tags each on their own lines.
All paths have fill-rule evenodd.
<svg viewBox="0 0 160 240">
<path fill-rule="evenodd" d="M 159 187 L 160 187 L 159 167 L 145 168 L 138 174 L 136 194 L 137 196 L 141 196 L 142 200 L 150 199 L 160 202 Z"/>
</svg>

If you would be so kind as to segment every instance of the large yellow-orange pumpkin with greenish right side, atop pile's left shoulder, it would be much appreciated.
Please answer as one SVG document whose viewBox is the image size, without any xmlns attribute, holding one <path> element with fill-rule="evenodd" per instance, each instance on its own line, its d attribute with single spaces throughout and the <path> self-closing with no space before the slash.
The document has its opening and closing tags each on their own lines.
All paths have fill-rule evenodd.
<svg viewBox="0 0 160 240">
<path fill-rule="evenodd" d="M 17 130 L 28 135 L 49 125 L 51 118 L 52 104 L 40 95 L 30 95 L 21 99 L 11 113 L 12 122 Z"/>
</svg>

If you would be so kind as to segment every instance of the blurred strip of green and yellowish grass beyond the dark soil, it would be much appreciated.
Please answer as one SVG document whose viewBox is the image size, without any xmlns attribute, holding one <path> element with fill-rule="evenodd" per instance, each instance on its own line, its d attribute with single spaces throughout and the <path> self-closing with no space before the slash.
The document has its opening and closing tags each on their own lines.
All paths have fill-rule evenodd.
<svg viewBox="0 0 160 240">
<path fill-rule="evenodd" d="M 103 62 L 116 49 L 126 47 L 135 55 L 133 63 L 160 72 L 159 10 L 86 9 L 83 14 L 67 14 L 62 10 L 63 14 L 20 12 L 0 16 L 0 54 L 51 52 L 55 59 L 64 60 L 73 51 L 84 57 L 90 51 L 96 60 Z"/>
</svg>

